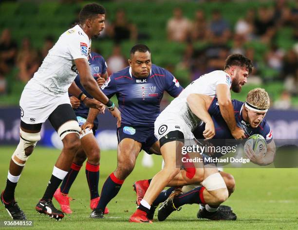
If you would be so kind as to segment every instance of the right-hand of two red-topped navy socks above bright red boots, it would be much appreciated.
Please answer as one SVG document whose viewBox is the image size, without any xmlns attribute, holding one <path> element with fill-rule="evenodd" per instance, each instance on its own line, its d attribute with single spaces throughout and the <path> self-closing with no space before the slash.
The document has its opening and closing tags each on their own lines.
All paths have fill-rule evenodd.
<svg viewBox="0 0 298 230">
<path fill-rule="evenodd" d="M 90 199 L 99 196 L 98 181 L 99 181 L 99 165 L 92 165 L 88 161 L 86 163 L 86 177 L 90 190 Z"/>
</svg>

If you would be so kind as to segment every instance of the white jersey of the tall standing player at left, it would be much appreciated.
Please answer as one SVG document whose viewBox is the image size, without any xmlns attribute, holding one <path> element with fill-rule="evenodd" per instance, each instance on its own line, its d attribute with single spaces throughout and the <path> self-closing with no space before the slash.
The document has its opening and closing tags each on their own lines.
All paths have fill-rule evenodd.
<svg viewBox="0 0 298 230">
<path fill-rule="evenodd" d="M 78 74 L 74 60 L 87 60 L 90 43 L 88 35 L 79 25 L 64 32 L 27 83 L 27 87 L 34 87 L 52 96 L 66 94 Z"/>
</svg>

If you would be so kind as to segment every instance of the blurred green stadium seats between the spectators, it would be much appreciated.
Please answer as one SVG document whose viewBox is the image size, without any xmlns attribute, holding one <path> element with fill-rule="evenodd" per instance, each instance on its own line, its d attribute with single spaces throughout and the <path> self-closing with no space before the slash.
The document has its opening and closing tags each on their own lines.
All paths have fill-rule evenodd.
<svg viewBox="0 0 298 230">
<path fill-rule="evenodd" d="M 179 1 L 169 3 L 167 1 L 156 2 L 150 4 L 149 0 L 139 1 L 137 4 L 133 1 L 105 1 L 104 6 L 107 9 L 107 19 L 112 21 L 115 17 L 115 11 L 117 9 L 125 9 L 127 17 L 130 21 L 135 23 L 138 27 L 138 31 L 141 34 L 148 35 L 149 38 L 140 40 L 148 44 L 152 50 L 153 62 L 157 65 L 166 66 L 168 64 L 177 64 L 183 56 L 186 45 L 168 42 L 166 36 L 166 24 L 167 20 L 172 16 L 172 9 L 176 6 L 182 7 L 185 16 L 190 19 L 194 18 L 194 12 L 197 9 L 203 9 L 206 17 L 209 19 L 213 9 L 221 10 L 223 17 L 227 19 L 231 28 L 233 28 L 237 19 L 243 17 L 248 8 L 257 8 L 260 6 L 259 1 L 244 1 L 241 4 L 235 4 L 233 2 L 195 2 L 187 1 L 187 4 L 181 4 Z M 59 35 L 71 26 L 77 18 L 79 9 L 85 2 L 61 4 L 58 1 L 41 1 L 40 3 L 28 3 L 28 2 L 2 2 L 0 3 L 0 28 L 9 28 L 12 31 L 12 36 L 20 45 L 22 38 L 28 37 L 32 40 L 32 45 L 35 48 L 41 48 L 44 42 L 44 38 L 48 35 L 58 38 Z M 221 4 L 221 5 L 219 5 Z M 265 4 L 273 4 L 268 2 Z M 233 12 L 233 13 L 231 13 Z M 277 44 L 287 50 L 293 46 L 292 29 L 282 28 L 277 35 Z M 123 54 L 128 57 L 130 47 L 133 45 L 131 41 L 125 41 L 121 44 Z M 196 42 L 195 48 L 204 48 L 207 43 Z M 263 61 L 263 55 L 268 50 L 268 47 L 258 41 L 252 41 L 246 44 L 247 47 L 252 46 L 256 51 L 256 60 L 260 61 L 261 77 L 269 82 L 265 88 L 268 89 L 282 89 L 282 83 L 275 83 L 275 80 L 279 77 L 278 73 L 268 67 L 266 67 Z M 93 47 L 99 50 L 99 52 L 105 57 L 109 57 L 112 53 L 113 41 L 109 39 L 94 40 Z M 13 76 L 16 70 L 10 74 Z M 188 75 L 188 71 L 178 70 L 177 78 L 182 79 L 185 75 Z M 12 99 L 10 103 L 18 104 L 18 98 L 23 84 L 19 83 L 13 77 L 9 77 L 9 92 L 12 95 L 6 96 Z M 189 77 L 186 76 L 186 79 Z M 181 80 L 185 82 L 185 79 Z M 18 85 L 18 86 L 17 86 Z M 250 87 L 243 87 L 250 88 Z M 278 97 L 280 90 L 272 90 L 272 93 Z M 246 90 L 242 92 L 242 96 L 245 96 Z M 5 96 L 1 96 L 1 104 L 5 104 L 8 101 Z M 241 96 L 240 96 L 241 97 Z M 2 99 L 3 98 L 3 99 Z M 294 99 L 294 102 L 298 99 Z"/>
</svg>

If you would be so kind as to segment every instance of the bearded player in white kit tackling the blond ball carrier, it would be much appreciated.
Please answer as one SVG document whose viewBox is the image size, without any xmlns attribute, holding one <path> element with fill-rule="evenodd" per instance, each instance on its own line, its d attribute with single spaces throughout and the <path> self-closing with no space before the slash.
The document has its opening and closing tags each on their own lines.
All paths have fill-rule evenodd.
<svg viewBox="0 0 298 230">
<path fill-rule="evenodd" d="M 180 168 L 176 167 L 176 160 L 177 156 L 181 155 L 183 140 L 194 138 L 192 131 L 202 120 L 206 124 L 203 133 L 205 138 L 211 139 L 214 136 L 212 119 L 206 119 L 210 116 L 202 116 L 198 112 L 200 108 L 196 106 L 196 94 L 216 96 L 221 114 L 231 134 L 235 139 L 245 138 L 244 131 L 236 125 L 230 89 L 239 93 L 251 71 L 251 60 L 240 54 L 230 55 L 225 61 L 223 71 L 213 71 L 193 81 L 157 117 L 154 123 L 154 133 L 159 140 L 165 166 L 152 178 L 148 188 L 139 188 L 139 191 L 142 190 L 139 193 L 142 195 L 145 191 L 146 193 L 137 211 L 130 216 L 130 222 L 151 223 L 147 216 L 151 204 L 169 182 L 180 173 Z M 205 170 L 202 174 L 204 174 L 202 184 L 206 188 L 202 189 L 202 195 L 205 193 L 204 196 L 209 194 L 208 197 L 210 197 L 210 200 L 205 201 L 210 205 L 220 205 L 228 198 L 228 191 L 222 176 L 216 168 Z M 137 193 L 137 196 L 137 199 L 140 199 L 140 194 Z"/>
</svg>

